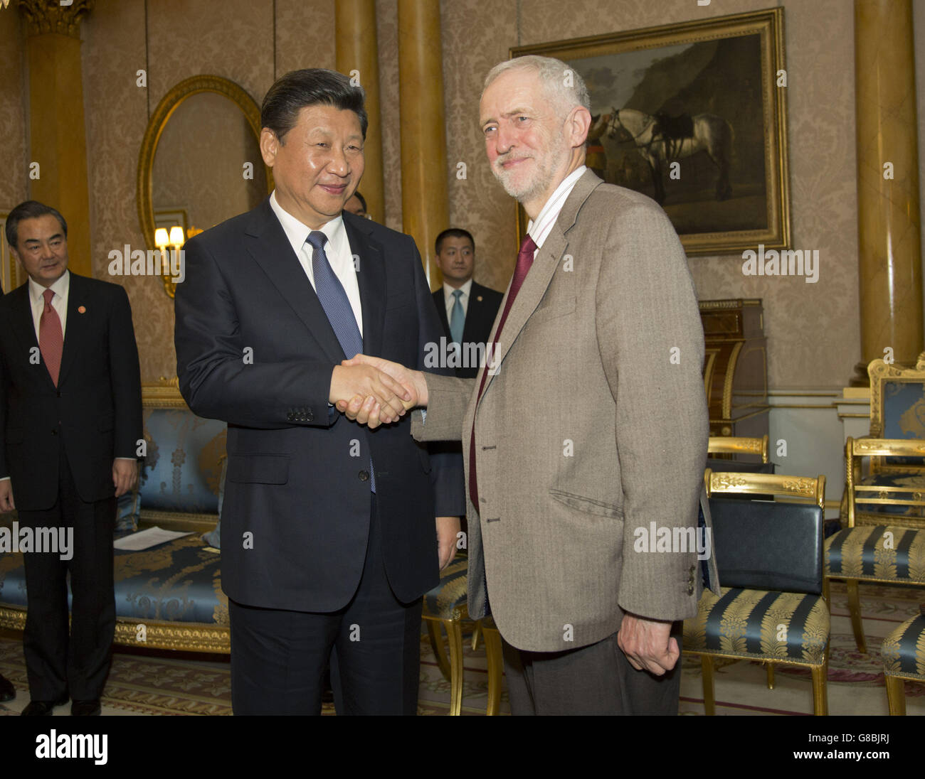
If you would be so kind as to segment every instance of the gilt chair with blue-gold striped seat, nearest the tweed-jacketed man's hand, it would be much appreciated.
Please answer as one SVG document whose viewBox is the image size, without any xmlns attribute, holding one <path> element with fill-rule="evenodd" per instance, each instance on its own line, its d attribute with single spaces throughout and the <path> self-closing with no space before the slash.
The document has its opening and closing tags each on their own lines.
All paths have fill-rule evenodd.
<svg viewBox="0 0 925 779">
<path fill-rule="evenodd" d="M 813 711 L 828 713 L 829 607 L 822 592 L 825 477 L 705 474 L 721 594 L 704 590 L 685 620 L 684 651 L 700 655 L 704 707 L 716 713 L 713 658 L 808 667 Z M 785 495 L 789 502 L 714 500 L 718 493 Z M 741 527 L 737 524 L 741 523 Z M 769 671 L 769 687 L 773 676 Z"/>
</svg>

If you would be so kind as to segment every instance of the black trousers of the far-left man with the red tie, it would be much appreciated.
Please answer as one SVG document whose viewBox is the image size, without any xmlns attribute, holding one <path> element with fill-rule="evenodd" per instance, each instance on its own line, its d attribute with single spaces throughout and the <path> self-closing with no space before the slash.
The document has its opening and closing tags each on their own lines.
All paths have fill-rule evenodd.
<svg viewBox="0 0 925 779">
<path fill-rule="evenodd" d="M 73 529 L 72 556 L 23 554 L 29 612 L 22 645 L 32 700 L 95 700 L 103 694 L 116 631 L 113 530 L 116 498 L 86 503 L 61 449 L 56 504 L 19 511 L 19 527 Z M 14 498 L 16 485 L 13 485 Z M 68 636 L 68 583 L 72 596 Z"/>
</svg>

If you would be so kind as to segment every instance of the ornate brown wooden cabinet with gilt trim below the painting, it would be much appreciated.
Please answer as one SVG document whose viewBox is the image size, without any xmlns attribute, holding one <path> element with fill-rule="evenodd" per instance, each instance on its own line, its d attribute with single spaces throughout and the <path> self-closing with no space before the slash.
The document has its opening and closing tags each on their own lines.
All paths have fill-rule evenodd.
<svg viewBox="0 0 925 779">
<path fill-rule="evenodd" d="M 768 360 L 759 299 L 701 300 L 710 435 L 768 432 Z"/>
</svg>

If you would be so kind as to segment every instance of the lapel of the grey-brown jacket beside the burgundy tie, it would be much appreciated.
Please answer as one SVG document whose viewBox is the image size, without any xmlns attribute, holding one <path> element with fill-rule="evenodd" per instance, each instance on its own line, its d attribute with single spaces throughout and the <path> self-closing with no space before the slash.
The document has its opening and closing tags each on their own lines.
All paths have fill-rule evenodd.
<svg viewBox="0 0 925 779">
<path fill-rule="evenodd" d="M 529 273 L 526 274 L 524 285 L 521 286 L 520 292 L 517 293 L 511 310 L 508 312 L 508 319 L 504 323 L 504 329 L 501 331 L 501 340 L 497 347 L 495 347 L 495 353 L 490 360 L 491 363 L 496 366 L 496 369 L 495 371 L 488 372 L 483 396 L 485 392 L 487 392 L 488 385 L 491 383 L 494 376 L 503 370 L 503 365 L 501 363 L 511 350 L 514 341 L 517 340 L 517 335 L 520 335 L 521 330 L 524 329 L 530 316 L 533 314 L 534 310 L 536 310 L 539 301 L 542 300 L 543 296 L 546 294 L 549 283 L 552 281 L 552 276 L 555 274 L 556 269 L 559 268 L 562 255 L 565 253 L 565 249 L 568 246 L 566 234 L 575 224 L 578 211 L 591 192 L 601 183 L 601 179 L 599 179 L 598 176 L 595 176 L 590 170 L 586 170 L 575 182 L 568 198 L 565 199 L 561 212 L 559 213 L 559 218 L 556 219 L 556 224 L 552 225 L 549 236 L 546 237 L 546 240 L 543 241 L 543 246 L 536 252 L 536 259 L 533 261 Z M 504 310 L 510 294 L 511 285 L 509 283 L 507 292 L 504 293 L 504 299 L 501 301 L 500 310 Z M 491 343 L 495 341 L 496 330 L 497 322 L 491 329 L 491 336 L 489 338 Z M 487 357 L 486 361 L 488 362 Z M 481 371 L 485 370 L 485 367 L 481 369 Z M 479 371 L 479 382 L 481 382 L 481 371 Z"/>
</svg>

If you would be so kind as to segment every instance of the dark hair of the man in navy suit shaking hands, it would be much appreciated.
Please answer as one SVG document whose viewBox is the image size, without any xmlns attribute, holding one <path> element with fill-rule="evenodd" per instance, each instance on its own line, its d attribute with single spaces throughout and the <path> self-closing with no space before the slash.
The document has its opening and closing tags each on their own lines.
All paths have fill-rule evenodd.
<svg viewBox="0 0 925 779">
<path fill-rule="evenodd" d="M 352 111 L 360 118 L 360 129 L 366 140 L 369 119 L 366 116 L 363 87 L 354 87 L 350 79 L 336 70 L 306 67 L 291 70 L 276 80 L 266 92 L 260 106 L 260 126 L 276 133 L 281 142 L 295 127 L 299 111 L 306 105 L 333 105 L 341 111 Z"/>
</svg>

